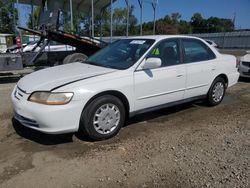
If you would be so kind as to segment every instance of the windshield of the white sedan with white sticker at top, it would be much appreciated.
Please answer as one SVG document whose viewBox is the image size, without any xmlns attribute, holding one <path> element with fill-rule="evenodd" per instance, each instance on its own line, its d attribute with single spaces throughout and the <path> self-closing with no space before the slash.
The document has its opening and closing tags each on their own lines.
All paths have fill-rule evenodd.
<svg viewBox="0 0 250 188">
<path fill-rule="evenodd" d="M 152 39 L 122 39 L 98 51 L 84 63 L 113 69 L 127 69 L 152 46 Z"/>
</svg>

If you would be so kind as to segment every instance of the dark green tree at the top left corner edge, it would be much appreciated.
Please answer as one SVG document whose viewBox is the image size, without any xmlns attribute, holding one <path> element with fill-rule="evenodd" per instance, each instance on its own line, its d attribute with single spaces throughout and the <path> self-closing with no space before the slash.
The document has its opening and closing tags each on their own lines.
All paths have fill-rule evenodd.
<svg viewBox="0 0 250 188">
<path fill-rule="evenodd" d="M 12 1 L 0 0 L 0 33 L 14 34 L 17 18 L 17 10 Z"/>
</svg>

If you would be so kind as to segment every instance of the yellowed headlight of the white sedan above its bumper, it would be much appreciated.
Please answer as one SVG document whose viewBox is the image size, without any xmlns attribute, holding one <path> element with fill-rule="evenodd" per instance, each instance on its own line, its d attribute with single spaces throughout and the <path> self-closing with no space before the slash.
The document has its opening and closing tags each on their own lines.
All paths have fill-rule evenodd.
<svg viewBox="0 0 250 188">
<path fill-rule="evenodd" d="M 73 93 L 52 93 L 49 91 L 37 91 L 28 98 L 31 102 L 47 104 L 47 105 L 62 105 L 71 101 Z"/>
</svg>

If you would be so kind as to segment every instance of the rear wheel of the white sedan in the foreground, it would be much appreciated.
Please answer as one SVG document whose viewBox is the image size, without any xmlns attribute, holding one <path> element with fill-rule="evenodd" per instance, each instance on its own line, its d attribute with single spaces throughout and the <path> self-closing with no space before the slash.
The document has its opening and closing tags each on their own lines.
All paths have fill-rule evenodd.
<svg viewBox="0 0 250 188">
<path fill-rule="evenodd" d="M 216 106 L 220 104 L 225 96 L 226 83 L 223 78 L 217 77 L 207 94 L 207 103 L 209 106 Z"/>
</svg>

